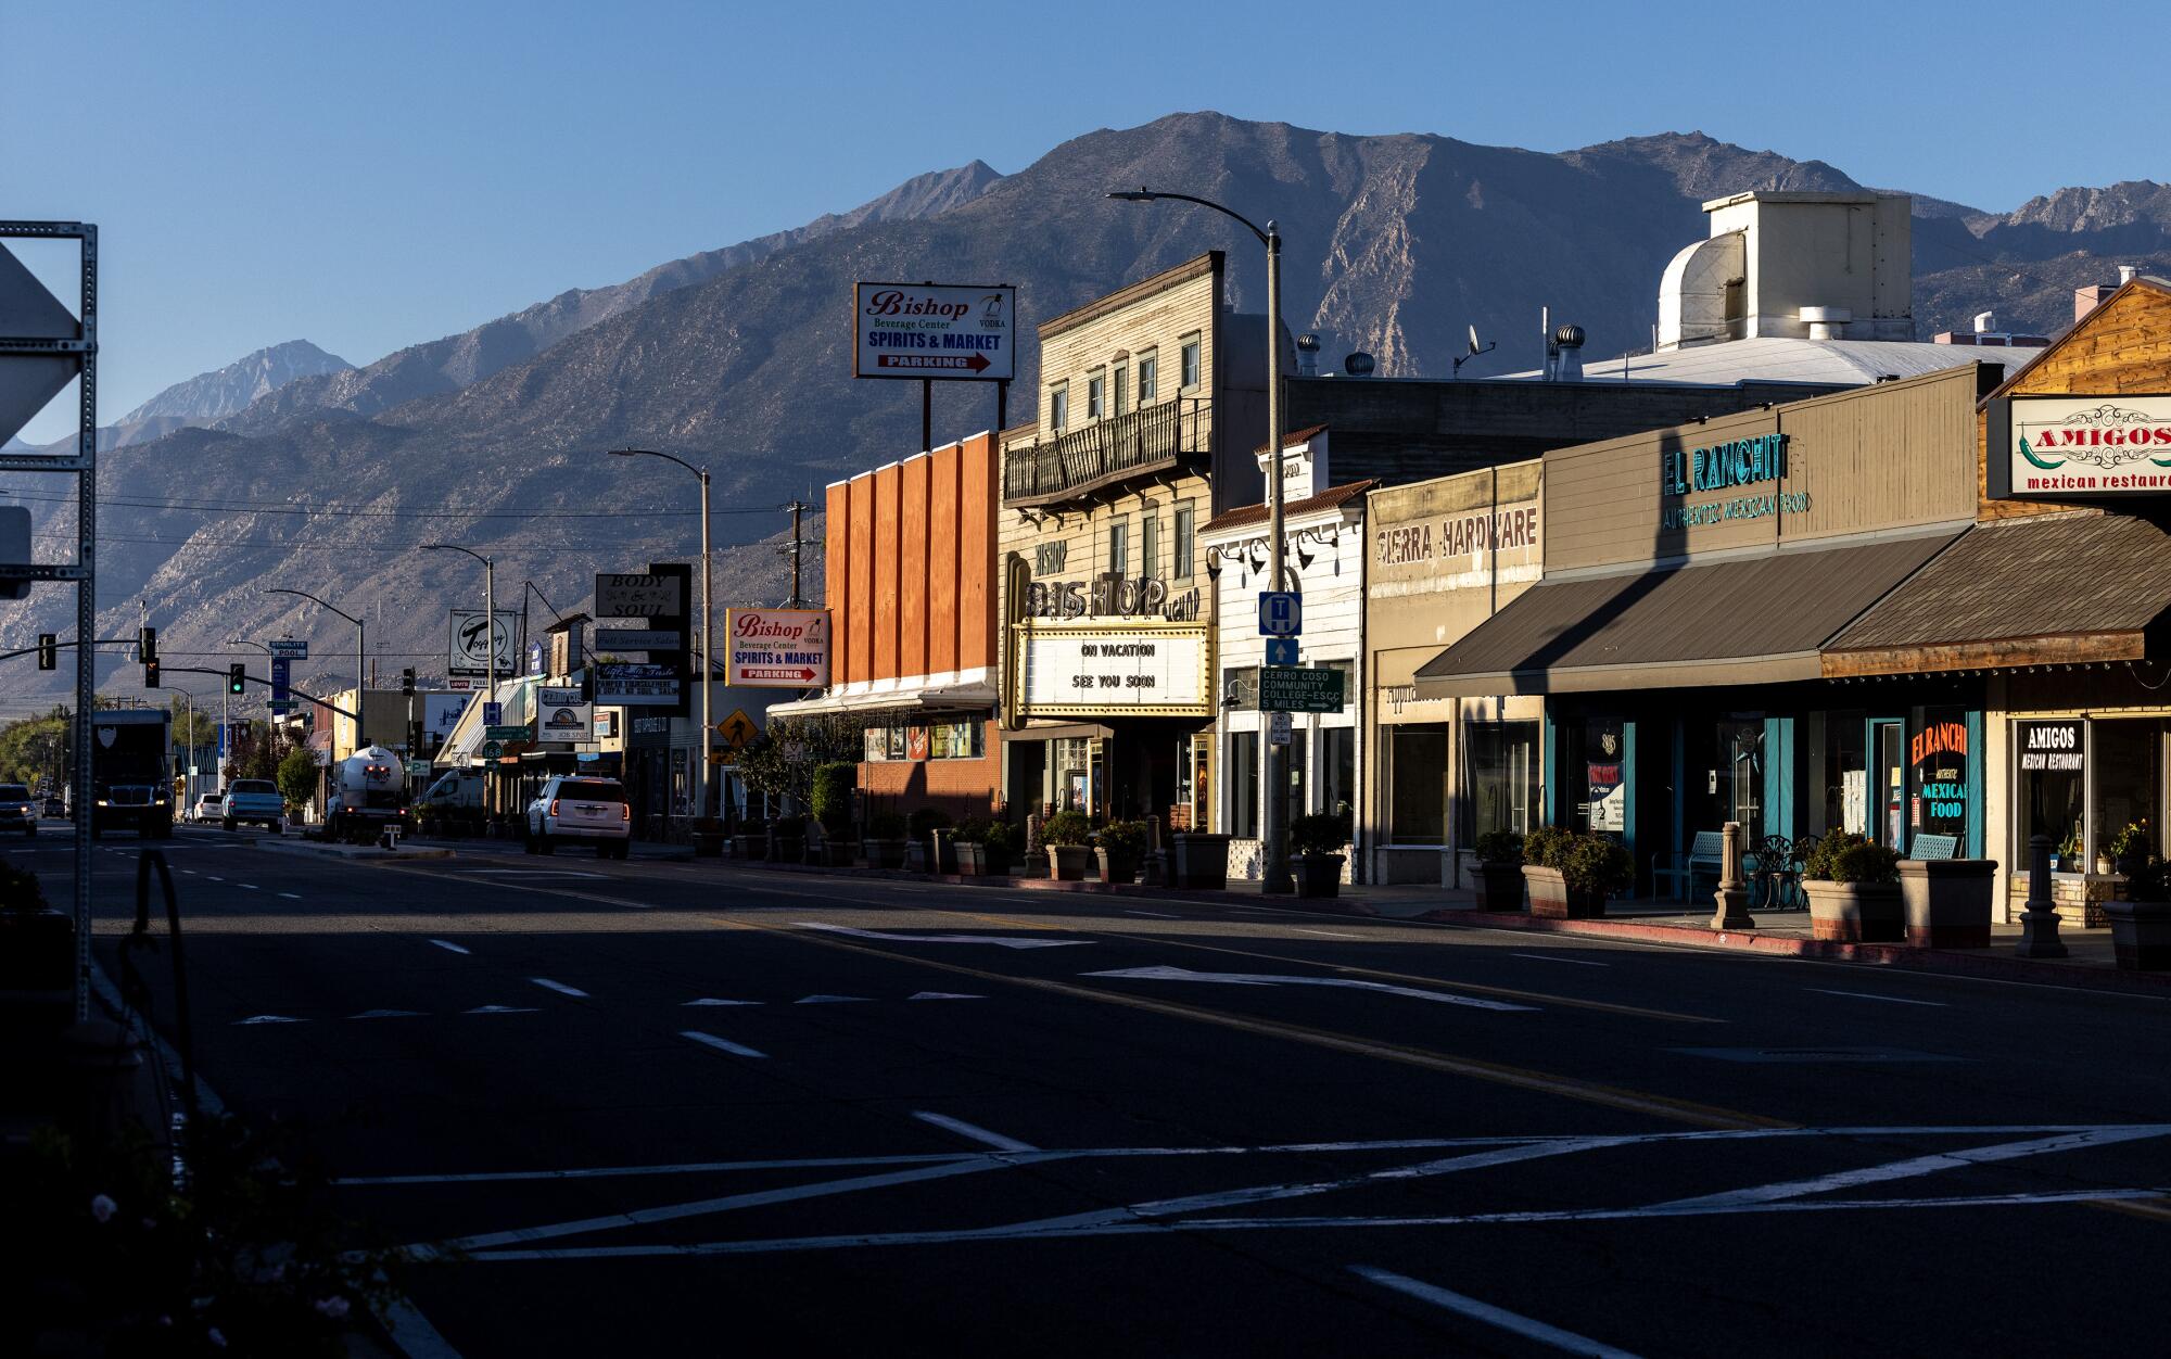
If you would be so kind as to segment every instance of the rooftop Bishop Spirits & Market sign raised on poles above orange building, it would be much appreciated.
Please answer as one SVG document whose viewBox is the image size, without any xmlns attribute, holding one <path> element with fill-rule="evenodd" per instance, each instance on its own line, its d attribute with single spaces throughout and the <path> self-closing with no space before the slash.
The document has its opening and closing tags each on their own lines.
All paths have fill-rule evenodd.
<svg viewBox="0 0 2171 1359">
<path fill-rule="evenodd" d="M 1018 289 L 862 282 L 851 293 L 853 378 L 1010 382 Z"/>
</svg>

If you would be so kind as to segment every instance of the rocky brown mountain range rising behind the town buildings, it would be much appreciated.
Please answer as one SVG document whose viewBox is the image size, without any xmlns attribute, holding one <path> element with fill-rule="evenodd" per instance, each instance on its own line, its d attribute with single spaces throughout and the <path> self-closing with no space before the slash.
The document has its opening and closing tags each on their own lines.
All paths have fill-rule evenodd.
<svg viewBox="0 0 2171 1359">
<path fill-rule="evenodd" d="M 1220 247 L 1231 304 L 1261 308 L 1248 232 L 1181 204 L 1105 200 L 1135 185 L 1274 215 L 1290 328 L 1320 332 L 1329 363 L 1374 354 L 1383 376 L 1446 373 L 1465 326 L 1500 341 L 1470 373 L 1535 367 L 1541 306 L 1585 326 L 1591 358 L 1639 347 L 1659 271 L 1704 234 L 1702 200 L 1861 187 L 1821 161 L 1702 132 L 1548 154 L 1218 113 L 1096 130 L 1010 176 L 983 163 L 918 176 L 849 213 L 560 293 L 367 367 L 323 356 L 321 371 L 241 410 L 191 410 L 191 428 L 102 465 L 100 604 L 113 625 L 148 612 L 165 647 L 211 653 L 291 630 L 343 651 L 339 619 L 263 595 L 304 588 L 367 617 L 386 658 L 412 658 L 384 664 L 430 673 L 441 610 L 480 604 L 480 567 L 421 543 L 495 556 L 502 606 L 532 580 L 567 610 L 586 604 L 597 569 L 693 554 L 693 478 L 601 456 L 623 445 L 710 467 L 716 538 L 747 545 L 719 554 L 719 599 L 777 601 L 777 506 L 918 439 L 914 384 L 849 378 L 853 280 L 1016 282 L 1033 323 Z M 2145 180 L 2058 189 L 2013 213 L 1917 198 L 1915 213 L 1924 336 L 1986 308 L 2004 328 L 2056 332 L 2073 287 L 2115 280 L 2119 263 L 2171 261 L 2171 189 Z M 1036 356 L 1018 358 L 1014 419 L 1027 419 Z M 167 410 L 165 395 L 152 406 Z M 990 391 L 938 384 L 938 439 L 992 419 Z M 41 532 L 67 532 L 65 506 L 35 508 Z M 528 517 L 538 510 L 554 517 Z M 818 519 L 808 525 L 818 538 Z M 805 580 L 818 582 L 812 558 Z M 59 593 L 0 604 L 0 636 L 30 632 L 33 614 L 48 627 L 65 617 Z"/>
</svg>

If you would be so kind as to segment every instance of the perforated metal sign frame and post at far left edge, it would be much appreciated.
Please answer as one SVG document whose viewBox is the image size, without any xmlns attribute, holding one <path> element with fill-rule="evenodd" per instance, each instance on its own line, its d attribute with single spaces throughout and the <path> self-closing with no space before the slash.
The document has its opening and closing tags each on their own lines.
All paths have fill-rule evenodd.
<svg viewBox="0 0 2171 1359">
<path fill-rule="evenodd" d="M 48 471 L 76 475 L 76 560 L 4 562 L 4 575 L 28 582 L 76 584 L 76 719 L 74 719 L 74 805 L 91 805 L 91 703 L 98 693 L 98 226 L 89 221 L 0 221 L 7 241 L 76 241 L 82 265 L 82 297 L 76 334 L 15 334 L 15 317 L 0 315 L 0 363 L 74 360 L 76 367 L 76 454 L 0 454 L 0 471 Z M 50 293 L 48 293 L 50 295 Z M 4 302 L 4 300 L 0 300 Z M 65 386 L 65 382 L 63 382 Z M 13 434 L 13 430 L 9 432 Z M 87 823 L 85 823 L 87 825 Z M 91 836 L 76 836 L 76 1020 L 91 1014 Z"/>
</svg>

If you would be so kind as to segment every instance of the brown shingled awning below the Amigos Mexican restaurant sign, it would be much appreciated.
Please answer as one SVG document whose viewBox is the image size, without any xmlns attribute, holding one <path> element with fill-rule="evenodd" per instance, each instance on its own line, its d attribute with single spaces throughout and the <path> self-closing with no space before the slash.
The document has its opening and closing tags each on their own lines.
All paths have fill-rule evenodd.
<svg viewBox="0 0 2171 1359">
<path fill-rule="evenodd" d="M 2164 647 L 2171 534 L 2130 515 L 1978 523 L 1824 649 L 1828 677 L 2143 660 Z"/>
</svg>

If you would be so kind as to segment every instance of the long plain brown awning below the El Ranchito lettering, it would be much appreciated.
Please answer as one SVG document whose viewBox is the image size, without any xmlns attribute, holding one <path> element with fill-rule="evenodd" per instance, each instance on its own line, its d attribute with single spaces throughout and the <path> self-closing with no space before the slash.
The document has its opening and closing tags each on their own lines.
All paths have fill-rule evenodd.
<svg viewBox="0 0 2171 1359">
<path fill-rule="evenodd" d="M 1546 580 L 1418 669 L 1420 699 L 1787 684 L 1954 532 Z"/>
</svg>

